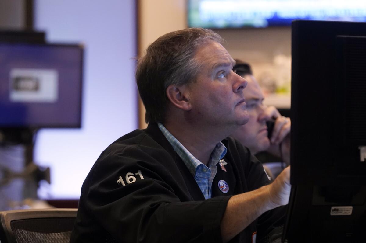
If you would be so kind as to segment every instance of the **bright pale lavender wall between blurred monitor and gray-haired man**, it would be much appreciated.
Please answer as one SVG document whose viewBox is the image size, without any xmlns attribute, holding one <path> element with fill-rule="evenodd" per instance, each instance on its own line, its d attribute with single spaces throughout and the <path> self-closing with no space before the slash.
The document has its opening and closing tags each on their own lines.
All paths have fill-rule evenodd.
<svg viewBox="0 0 366 243">
<path fill-rule="evenodd" d="M 35 161 L 51 167 L 41 197 L 78 198 L 100 153 L 137 128 L 134 0 L 35 0 L 34 27 L 48 42 L 84 43 L 81 129 L 42 129 Z"/>
</svg>

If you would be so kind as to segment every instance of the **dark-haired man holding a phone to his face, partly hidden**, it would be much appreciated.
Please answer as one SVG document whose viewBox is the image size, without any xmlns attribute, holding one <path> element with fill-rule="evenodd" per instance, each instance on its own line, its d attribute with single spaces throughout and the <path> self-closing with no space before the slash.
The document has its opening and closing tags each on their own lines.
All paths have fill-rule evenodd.
<svg viewBox="0 0 366 243">
<path fill-rule="evenodd" d="M 286 165 L 289 165 L 290 118 L 281 116 L 276 107 L 267 107 L 263 104 L 263 92 L 253 76 L 250 65 L 240 60 L 235 61 L 234 72 L 248 81 L 243 93 L 249 113 L 249 121 L 239 127 L 231 136 L 248 147 L 253 154 L 267 151 L 281 158 Z M 269 129 L 270 126 L 273 126 L 272 131 Z"/>
</svg>

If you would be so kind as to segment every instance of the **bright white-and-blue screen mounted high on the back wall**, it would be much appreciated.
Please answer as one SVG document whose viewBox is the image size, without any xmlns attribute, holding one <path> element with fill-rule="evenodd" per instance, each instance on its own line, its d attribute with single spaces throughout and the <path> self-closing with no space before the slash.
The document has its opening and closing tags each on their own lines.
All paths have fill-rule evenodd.
<svg viewBox="0 0 366 243">
<path fill-rule="evenodd" d="M 294 19 L 366 21 L 359 0 L 188 0 L 188 27 L 291 26 Z"/>
</svg>

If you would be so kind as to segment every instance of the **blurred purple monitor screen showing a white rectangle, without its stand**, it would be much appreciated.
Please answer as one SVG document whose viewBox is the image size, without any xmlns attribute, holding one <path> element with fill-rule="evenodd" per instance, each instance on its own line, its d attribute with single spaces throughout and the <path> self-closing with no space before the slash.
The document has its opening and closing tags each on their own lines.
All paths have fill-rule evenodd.
<svg viewBox="0 0 366 243">
<path fill-rule="evenodd" d="M 0 42 L 0 128 L 80 127 L 83 47 Z"/>
</svg>

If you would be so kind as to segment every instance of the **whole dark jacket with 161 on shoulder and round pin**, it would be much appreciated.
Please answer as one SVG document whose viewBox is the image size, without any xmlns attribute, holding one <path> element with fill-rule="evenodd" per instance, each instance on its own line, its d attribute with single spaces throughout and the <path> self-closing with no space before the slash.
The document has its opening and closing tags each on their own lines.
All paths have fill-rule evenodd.
<svg viewBox="0 0 366 243">
<path fill-rule="evenodd" d="M 229 198 L 270 183 L 261 163 L 232 138 L 226 172 L 218 166 L 212 198 L 201 190 L 157 124 L 113 142 L 90 170 L 81 190 L 71 242 L 222 242 L 220 222 Z M 227 182 L 227 193 L 220 191 Z M 230 242 L 251 242 L 278 223 L 269 211 Z M 258 242 L 257 236 L 257 242 Z"/>
</svg>

